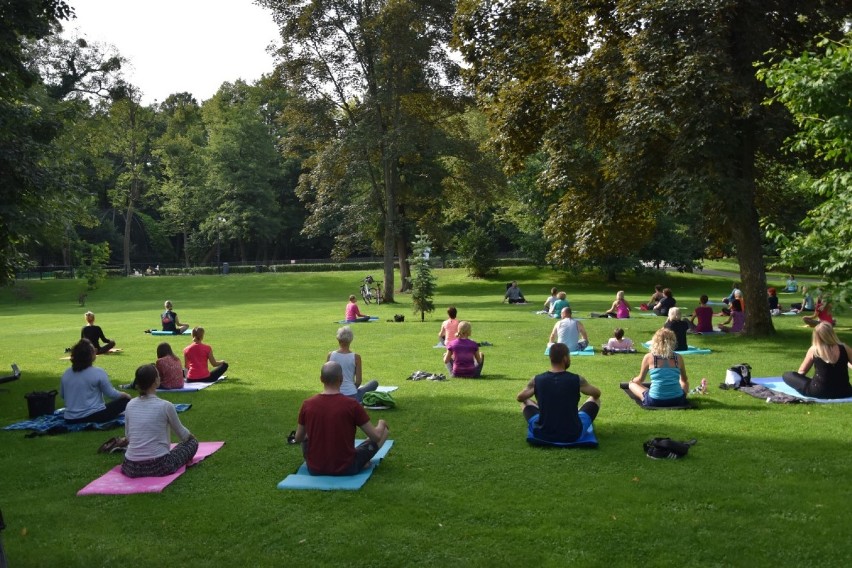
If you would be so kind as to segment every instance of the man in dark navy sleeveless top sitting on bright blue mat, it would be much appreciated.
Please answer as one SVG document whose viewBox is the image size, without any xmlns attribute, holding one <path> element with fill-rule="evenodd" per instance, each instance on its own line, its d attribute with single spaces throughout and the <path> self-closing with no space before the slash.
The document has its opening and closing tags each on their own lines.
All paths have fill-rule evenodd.
<svg viewBox="0 0 852 568">
<path fill-rule="evenodd" d="M 600 389 L 568 371 L 570 366 L 568 346 L 554 343 L 550 346 L 550 370 L 533 377 L 518 393 L 517 400 L 528 425 L 528 442 L 538 445 L 577 442 L 597 417 Z M 581 393 L 589 399 L 577 410 Z"/>
</svg>

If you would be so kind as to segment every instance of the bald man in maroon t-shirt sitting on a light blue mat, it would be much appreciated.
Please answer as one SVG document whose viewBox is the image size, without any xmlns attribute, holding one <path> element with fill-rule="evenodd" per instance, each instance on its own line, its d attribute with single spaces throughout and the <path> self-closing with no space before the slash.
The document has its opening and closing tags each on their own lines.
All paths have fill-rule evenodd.
<svg viewBox="0 0 852 568">
<path fill-rule="evenodd" d="M 388 425 L 379 420 L 375 426 L 364 408 L 340 393 L 343 369 L 335 361 L 322 366 L 323 390 L 302 403 L 296 444 L 311 475 L 354 475 L 364 469 L 388 439 Z M 355 447 L 355 428 L 369 438 Z"/>
</svg>

